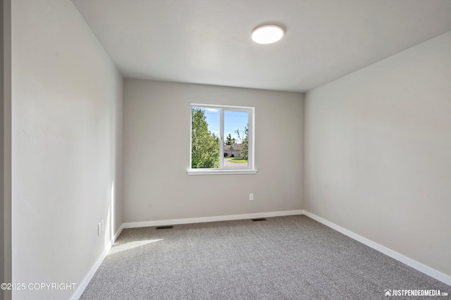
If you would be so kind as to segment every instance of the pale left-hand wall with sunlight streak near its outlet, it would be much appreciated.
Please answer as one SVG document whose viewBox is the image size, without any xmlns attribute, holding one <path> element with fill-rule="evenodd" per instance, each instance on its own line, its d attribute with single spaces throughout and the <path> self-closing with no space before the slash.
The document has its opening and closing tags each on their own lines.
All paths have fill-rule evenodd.
<svg viewBox="0 0 451 300">
<path fill-rule="evenodd" d="M 123 80 L 69 0 L 14 0 L 12 47 L 13 282 L 80 287 L 110 240 L 113 196 L 122 223 Z"/>
</svg>

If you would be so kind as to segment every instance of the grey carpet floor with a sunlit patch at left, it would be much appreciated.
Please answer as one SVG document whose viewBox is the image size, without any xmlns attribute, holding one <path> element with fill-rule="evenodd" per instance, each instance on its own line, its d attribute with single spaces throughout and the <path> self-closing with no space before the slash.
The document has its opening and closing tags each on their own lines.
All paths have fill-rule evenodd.
<svg viewBox="0 0 451 300">
<path fill-rule="evenodd" d="M 385 289 L 451 294 L 443 282 L 293 215 L 125 229 L 80 299 L 408 298 Z"/>
</svg>

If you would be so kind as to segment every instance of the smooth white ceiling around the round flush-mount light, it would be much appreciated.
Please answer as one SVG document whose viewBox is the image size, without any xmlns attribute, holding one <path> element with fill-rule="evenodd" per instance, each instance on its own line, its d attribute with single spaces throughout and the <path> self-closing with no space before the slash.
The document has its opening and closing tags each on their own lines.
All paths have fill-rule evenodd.
<svg viewBox="0 0 451 300">
<path fill-rule="evenodd" d="M 73 0 L 127 78 L 307 92 L 451 30 L 450 0 Z M 286 28 L 255 44 L 257 25 Z"/>
</svg>

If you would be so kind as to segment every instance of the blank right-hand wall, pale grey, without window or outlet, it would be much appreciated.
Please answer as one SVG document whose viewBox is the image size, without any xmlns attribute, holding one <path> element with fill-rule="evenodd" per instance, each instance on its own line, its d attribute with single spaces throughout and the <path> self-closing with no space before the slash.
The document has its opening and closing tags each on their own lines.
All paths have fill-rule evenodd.
<svg viewBox="0 0 451 300">
<path fill-rule="evenodd" d="M 451 275 L 451 32 L 306 95 L 304 209 Z"/>
</svg>

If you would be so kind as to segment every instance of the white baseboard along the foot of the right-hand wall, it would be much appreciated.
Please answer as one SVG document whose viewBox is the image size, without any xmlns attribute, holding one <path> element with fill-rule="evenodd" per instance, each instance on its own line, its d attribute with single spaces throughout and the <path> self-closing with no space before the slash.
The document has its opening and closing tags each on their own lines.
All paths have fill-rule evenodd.
<svg viewBox="0 0 451 300">
<path fill-rule="evenodd" d="M 391 249 L 388 249 L 385 246 L 382 246 L 381 244 L 378 244 L 376 242 L 371 241 L 370 239 L 366 239 L 366 237 L 362 237 L 361 235 L 357 235 L 356 233 L 347 230 L 339 225 L 336 225 L 335 223 L 329 222 L 328 220 L 325 220 L 318 215 L 314 215 L 313 213 L 310 213 L 309 211 L 303 211 L 304 215 L 307 215 L 307 217 L 312 218 L 319 223 L 322 223 L 323 225 L 326 225 L 333 230 L 337 230 L 338 232 L 341 232 L 343 235 L 347 235 L 348 237 L 355 239 L 357 242 L 361 242 L 362 244 L 365 244 L 366 246 L 369 246 L 379 252 L 382 252 L 383 254 L 390 256 L 391 258 L 395 258 L 397 261 L 400 261 L 406 265 L 409 265 L 410 267 L 419 270 L 421 273 L 424 273 L 426 275 L 429 275 L 436 280 L 440 280 L 441 282 L 450 285 L 451 286 L 451 276 L 448 276 L 446 274 L 441 273 L 438 270 L 435 270 L 431 267 L 428 267 L 427 265 L 424 265 L 422 263 L 419 263 L 418 261 L 414 261 L 412 258 L 408 258 L 407 256 L 404 256 L 402 254 L 397 253 L 396 251 L 393 251 Z"/>
</svg>

